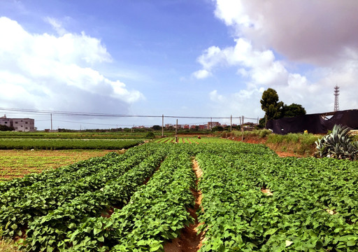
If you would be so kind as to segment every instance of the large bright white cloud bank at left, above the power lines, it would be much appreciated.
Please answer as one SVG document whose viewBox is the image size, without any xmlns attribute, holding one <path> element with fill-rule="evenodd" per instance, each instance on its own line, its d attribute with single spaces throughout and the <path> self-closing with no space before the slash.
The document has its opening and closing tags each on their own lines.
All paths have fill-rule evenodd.
<svg viewBox="0 0 358 252">
<path fill-rule="evenodd" d="M 99 39 L 71 34 L 56 20 L 48 21 L 62 35 L 30 34 L 14 20 L 0 18 L 6 38 L 0 40 L 1 106 L 123 113 L 144 99 L 93 68 L 112 60 Z"/>
</svg>

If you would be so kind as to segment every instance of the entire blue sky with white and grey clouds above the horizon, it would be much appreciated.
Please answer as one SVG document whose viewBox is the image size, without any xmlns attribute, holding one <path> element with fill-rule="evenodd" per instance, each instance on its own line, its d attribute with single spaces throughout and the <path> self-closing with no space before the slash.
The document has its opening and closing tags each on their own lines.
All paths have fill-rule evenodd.
<svg viewBox="0 0 358 252">
<path fill-rule="evenodd" d="M 1 0 L 0 108 L 261 118 L 268 87 L 322 113 L 339 85 L 340 109 L 358 109 L 357 11 L 356 0 Z M 47 114 L 0 113 L 50 127 Z M 55 128 L 161 124 L 53 116 Z"/>
</svg>

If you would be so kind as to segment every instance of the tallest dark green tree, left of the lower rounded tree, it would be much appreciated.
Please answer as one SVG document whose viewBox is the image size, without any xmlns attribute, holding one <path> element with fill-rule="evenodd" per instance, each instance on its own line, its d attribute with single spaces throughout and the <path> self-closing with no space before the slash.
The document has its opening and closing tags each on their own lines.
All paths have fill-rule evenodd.
<svg viewBox="0 0 358 252">
<path fill-rule="evenodd" d="M 274 89 L 268 88 L 265 90 L 260 103 L 261 109 L 265 111 L 267 120 L 282 118 L 283 102 L 278 102 L 278 94 Z"/>
</svg>

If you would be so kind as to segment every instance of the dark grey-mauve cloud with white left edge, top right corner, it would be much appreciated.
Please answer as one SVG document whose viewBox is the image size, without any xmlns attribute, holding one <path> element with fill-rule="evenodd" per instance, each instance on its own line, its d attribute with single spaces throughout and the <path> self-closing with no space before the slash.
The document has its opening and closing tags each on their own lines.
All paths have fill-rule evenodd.
<svg viewBox="0 0 358 252">
<path fill-rule="evenodd" d="M 217 0 L 215 15 L 257 47 L 327 66 L 357 51 L 357 8 L 356 0 Z"/>
</svg>

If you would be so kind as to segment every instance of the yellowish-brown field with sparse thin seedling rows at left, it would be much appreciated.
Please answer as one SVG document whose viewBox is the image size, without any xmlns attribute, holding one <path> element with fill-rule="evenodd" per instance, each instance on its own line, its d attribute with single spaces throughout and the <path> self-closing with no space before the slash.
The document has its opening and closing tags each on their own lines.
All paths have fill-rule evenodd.
<svg viewBox="0 0 358 252">
<path fill-rule="evenodd" d="M 0 181 L 20 178 L 74 162 L 100 157 L 110 151 L 20 151 L 0 150 Z"/>
</svg>

